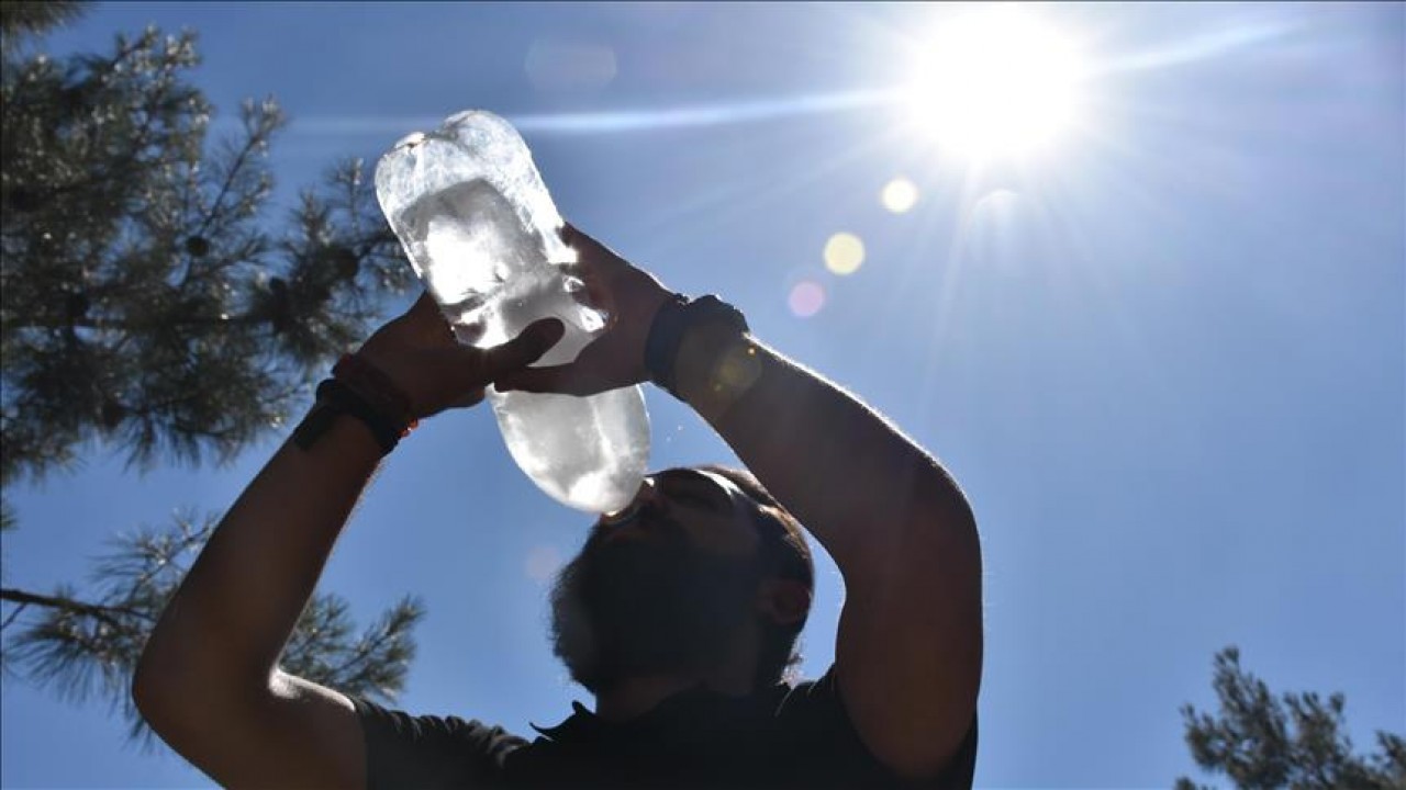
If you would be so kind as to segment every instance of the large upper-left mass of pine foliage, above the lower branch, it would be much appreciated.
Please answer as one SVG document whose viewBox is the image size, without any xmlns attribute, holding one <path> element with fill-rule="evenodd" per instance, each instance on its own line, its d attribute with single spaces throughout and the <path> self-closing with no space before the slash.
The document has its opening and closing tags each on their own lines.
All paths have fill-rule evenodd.
<svg viewBox="0 0 1406 790">
<path fill-rule="evenodd" d="M 0 482 L 90 440 L 141 467 L 229 458 L 408 283 L 360 162 L 269 228 L 277 104 L 207 145 L 193 34 L 8 58 L 3 90 Z"/>
</svg>

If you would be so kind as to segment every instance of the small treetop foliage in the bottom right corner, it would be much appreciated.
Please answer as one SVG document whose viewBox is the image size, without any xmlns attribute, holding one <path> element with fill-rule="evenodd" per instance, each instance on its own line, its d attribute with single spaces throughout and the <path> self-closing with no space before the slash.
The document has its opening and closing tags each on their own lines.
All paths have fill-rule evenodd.
<svg viewBox="0 0 1406 790">
<path fill-rule="evenodd" d="M 1220 710 L 1182 706 L 1187 745 L 1202 769 L 1243 790 L 1406 790 L 1406 739 L 1376 732 L 1379 752 L 1355 755 L 1344 724 L 1343 694 L 1275 696 L 1240 668 L 1230 647 L 1215 658 L 1212 680 Z M 1194 790 L 1178 779 L 1178 790 Z"/>
</svg>

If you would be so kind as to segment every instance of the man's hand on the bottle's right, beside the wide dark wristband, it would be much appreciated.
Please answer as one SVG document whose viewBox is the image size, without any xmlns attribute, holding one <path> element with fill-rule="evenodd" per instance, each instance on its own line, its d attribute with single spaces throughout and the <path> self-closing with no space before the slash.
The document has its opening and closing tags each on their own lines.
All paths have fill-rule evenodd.
<svg viewBox="0 0 1406 790">
<path fill-rule="evenodd" d="M 561 238 L 576 250 L 578 270 L 591 302 L 610 316 L 605 330 L 564 365 L 520 368 L 494 380 L 501 391 L 565 392 L 595 395 L 650 378 L 644 343 L 659 306 L 672 294 L 648 271 L 581 231 L 567 225 Z"/>
</svg>

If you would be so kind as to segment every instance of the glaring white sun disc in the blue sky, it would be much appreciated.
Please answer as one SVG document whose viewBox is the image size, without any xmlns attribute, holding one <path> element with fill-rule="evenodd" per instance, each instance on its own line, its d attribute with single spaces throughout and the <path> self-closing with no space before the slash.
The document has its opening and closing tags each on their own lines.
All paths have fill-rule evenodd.
<svg viewBox="0 0 1406 790">
<path fill-rule="evenodd" d="M 1074 41 L 1018 6 L 938 22 L 904 90 L 910 121 L 960 156 L 1025 157 L 1078 122 L 1084 59 Z"/>
</svg>

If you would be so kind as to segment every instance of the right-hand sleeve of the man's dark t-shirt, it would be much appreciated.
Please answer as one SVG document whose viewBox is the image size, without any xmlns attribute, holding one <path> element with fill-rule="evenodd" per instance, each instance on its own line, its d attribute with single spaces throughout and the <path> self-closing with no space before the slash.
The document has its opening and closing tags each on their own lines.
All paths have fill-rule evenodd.
<svg viewBox="0 0 1406 790">
<path fill-rule="evenodd" d="M 849 769 L 855 775 L 875 770 L 887 775 L 886 782 L 879 782 L 876 777 L 876 786 L 882 783 L 931 790 L 970 790 L 972 787 L 976 775 L 977 744 L 974 713 L 962 745 L 953 752 L 948 765 L 936 776 L 921 782 L 897 782 L 891 772 L 883 768 L 865 746 L 839 696 L 834 665 L 818 680 L 797 685 L 782 703 L 779 715 L 782 720 L 794 723 L 792 727 L 800 731 L 811 748 L 824 749 L 831 760 L 849 763 Z"/>
</svg>

